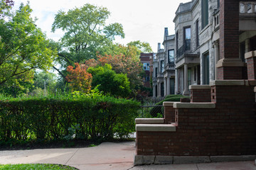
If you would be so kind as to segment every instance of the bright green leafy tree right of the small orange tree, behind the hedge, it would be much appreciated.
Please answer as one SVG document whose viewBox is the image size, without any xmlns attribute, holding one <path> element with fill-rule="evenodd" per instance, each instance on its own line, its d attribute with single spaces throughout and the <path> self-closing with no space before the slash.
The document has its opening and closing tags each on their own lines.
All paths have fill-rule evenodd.
<svg viewBox="0 0 256 170">
<path fill-rule="evenodd" d="M 126 74 L 117 74 L 110 64 L 103 67 L 90 67 L 87 72 L 92 74 L 92 87 L 98 86 L 100 91 L 116 97 L 128 97 L 131 93 Z"/>
</svg>

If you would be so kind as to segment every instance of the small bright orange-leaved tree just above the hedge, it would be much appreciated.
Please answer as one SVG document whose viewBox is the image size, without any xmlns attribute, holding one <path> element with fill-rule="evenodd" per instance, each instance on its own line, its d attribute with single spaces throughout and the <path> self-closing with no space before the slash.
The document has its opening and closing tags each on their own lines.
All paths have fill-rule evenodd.
<svg viewBox="0 0 256 170">
<path fill-rule="evenodd" d="M 73 91 L 81 91 L 88 93 L 92 84 L 92 74 L 86 72 L 85 65 L 75 63 L 75 69 L 72 66 L 68 66 L 67 71 L 69 72 L 66 79 L 70 82 L 70 86 Z"/>
</svg>

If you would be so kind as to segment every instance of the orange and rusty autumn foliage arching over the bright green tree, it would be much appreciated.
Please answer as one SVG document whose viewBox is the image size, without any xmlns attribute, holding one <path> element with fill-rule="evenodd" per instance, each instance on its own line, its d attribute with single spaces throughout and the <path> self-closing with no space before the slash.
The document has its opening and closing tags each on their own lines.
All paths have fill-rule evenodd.
<svg viewBox="0 0 256 170">
<path fill-rule="evenodd" d="M 97 55 L 97 60 L 87 60 L 84 64 L 75 63 L 75 69 L 72 66 L 68 66 L 67 71 L 69 74 L 66 79 L 70 82 L 73 91 L 89 92 L 92 84 L 92 74 L 88 73 L 87 69 L 89 67 L 103 67 L 105 64 L 110 64 L 112 70 L 117 74 L 126 74 L 131 89 L 141 83 L 138 75 L 142 72 L 142 65 L 137 57 L 127 55 Z"/>
</svg>

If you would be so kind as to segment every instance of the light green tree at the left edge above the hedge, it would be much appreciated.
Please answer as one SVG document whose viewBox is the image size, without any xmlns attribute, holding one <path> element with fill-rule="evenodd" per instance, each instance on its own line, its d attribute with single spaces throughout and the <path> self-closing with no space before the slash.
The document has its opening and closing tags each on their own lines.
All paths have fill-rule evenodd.
<svg viewBox="0 0 256 170">
<path fill-rule="evenodd" d="M 36 27 L 31 11 L 29 4 L 21 4 L 9 19 L 0 19 L 0 86 L 21 86 L 17 79 L 33 79 L 35 69 L 52 66 L 56 51 Z"/>
</svg>

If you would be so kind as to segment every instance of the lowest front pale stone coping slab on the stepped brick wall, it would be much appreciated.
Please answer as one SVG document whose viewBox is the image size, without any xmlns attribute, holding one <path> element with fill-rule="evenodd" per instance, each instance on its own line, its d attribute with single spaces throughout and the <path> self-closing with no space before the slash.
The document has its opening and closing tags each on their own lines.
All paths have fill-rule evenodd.
<svg viewBox="0 0 256 170">
<path fill-rule="evenodd" d="M 171 124 L 137 124 L 135 128 L 143 132 L 176 132 L 176 126 Z"/>
</svg>

